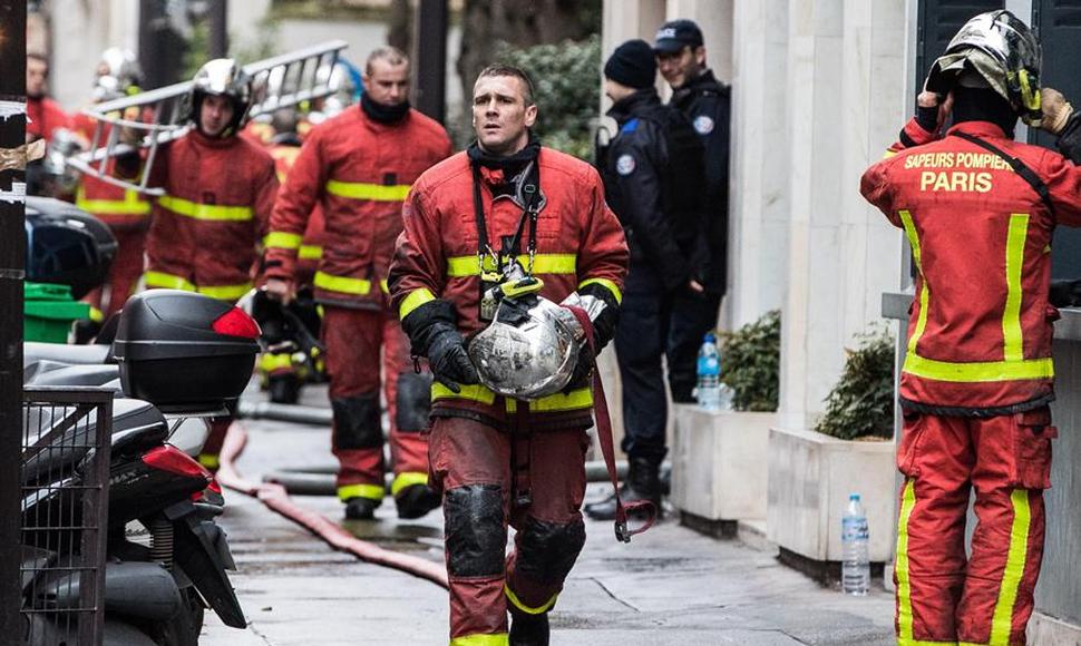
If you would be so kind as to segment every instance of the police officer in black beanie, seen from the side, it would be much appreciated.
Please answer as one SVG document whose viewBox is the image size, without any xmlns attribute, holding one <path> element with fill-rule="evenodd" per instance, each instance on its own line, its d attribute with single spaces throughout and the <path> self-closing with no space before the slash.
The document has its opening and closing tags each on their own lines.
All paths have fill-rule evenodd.
<svg viewBox="0 0 1081 646">
<path fill-rule="evenodd" d="M 605 196 L 626 231 L 631 270 L 626 278 L 615 349 L 623 382 L 623 450 L 630 472 L 623 500 L 652 500 L 660 510 L 658 471 L 668 451 L 668 401 L 662 356 L 678 401 L 694 385 L 701 332 L 689 312 L 710 302 L 709 218 L 704 217 L 703 147 L 686 118 L 661 102 L 656 60 L 644 40 L 624 42 L 604 66 L 608 116 L 620 126 L 598 149 Z M 711 301 L 715 310 L 715 301 Z M 715 320 L 715 319 L 714 319 Z M 689 341 L 690 343 L 686 343 Z M 615 497 L 588 505 L 596 519 L 615 516 Z"/>
</svg>

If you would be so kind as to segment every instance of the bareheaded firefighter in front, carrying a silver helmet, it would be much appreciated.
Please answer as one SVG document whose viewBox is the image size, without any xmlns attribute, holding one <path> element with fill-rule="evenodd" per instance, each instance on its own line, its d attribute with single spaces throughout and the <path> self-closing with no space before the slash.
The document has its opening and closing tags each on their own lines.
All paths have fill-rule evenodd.
<svg viewBox="0 0 1081 646">
<path fill-rule="evenodd" d="M 450 643 L 546 645 L 547 613 L 585 544 L 592 356 L 578 359 L 562 393 L 523 401 L 478 383 L 465 340 L 487 325 L 483 286 L 520 255 L 544 297 L 594 302 L 603 345 L 629 254 L 597 173 L 530 136 L 537 107 L 524 71 L 484 70 L 473 117 L 478 141 L 425 173 L 406 200 L 390 288 L 413 352 L 436 378 L 428 454 L 444 495 Z M 517 535 L 506 557 L 508 521 Z"/>
</svg>

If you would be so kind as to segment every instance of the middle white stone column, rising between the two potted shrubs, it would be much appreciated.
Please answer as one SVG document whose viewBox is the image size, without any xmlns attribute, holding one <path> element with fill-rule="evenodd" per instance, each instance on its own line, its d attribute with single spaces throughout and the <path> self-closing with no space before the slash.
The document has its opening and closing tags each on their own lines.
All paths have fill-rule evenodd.
<svg viewBox="0 0 1081 646">
<path fill-rule="evenodd" d="M 844 0 L 790 0 L 787 121 L 787 292 L 781 324 L 781 424 L 807 428 L 844 364 L 838 317 L 844 275 L 839 196 L 849 186 L 844 150 Z"/>
</svg>

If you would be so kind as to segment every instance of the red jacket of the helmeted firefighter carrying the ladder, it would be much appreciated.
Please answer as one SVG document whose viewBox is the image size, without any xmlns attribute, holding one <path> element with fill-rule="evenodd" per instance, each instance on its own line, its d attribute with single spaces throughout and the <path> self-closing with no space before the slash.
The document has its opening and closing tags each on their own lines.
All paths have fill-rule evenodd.
<svg viewBox="0 0 1081 646">
<path fill-rule="evenodd" d="M 252 286 L 256 245 L 277 194 L 274 160 L 243 137 L 193 129 L 158 156 L 146 239 L 148 287 L 192 290 L 234 301 Z"/>
</svg>

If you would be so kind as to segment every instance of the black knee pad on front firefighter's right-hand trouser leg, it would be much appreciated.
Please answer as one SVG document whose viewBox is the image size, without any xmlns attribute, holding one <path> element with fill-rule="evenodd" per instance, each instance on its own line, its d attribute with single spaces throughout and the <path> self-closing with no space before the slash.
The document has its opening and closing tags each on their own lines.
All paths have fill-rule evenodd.
<svg viewBox="0 0 1081 646">
<path fill-rule="evenodd" d="M 530 518 L 522 530 L 515 556 L 517 574 L 542 584 L 566 578 L 585 545 L 585 525 L 546 522 Z"/>
</svg>

